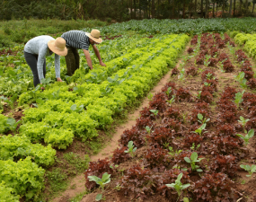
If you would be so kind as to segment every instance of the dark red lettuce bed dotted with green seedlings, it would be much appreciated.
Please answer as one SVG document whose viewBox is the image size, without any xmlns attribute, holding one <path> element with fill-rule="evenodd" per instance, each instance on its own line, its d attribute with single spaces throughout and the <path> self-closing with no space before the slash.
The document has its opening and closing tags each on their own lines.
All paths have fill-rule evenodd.
<svg viewBox="0 0 256 202">
<path fill-rule="evenodd" d="M 83 201 L 255 201 L 252 63 L 227 34 L 190 44 L 112 156 L 90 162 Z"/>
</svg>

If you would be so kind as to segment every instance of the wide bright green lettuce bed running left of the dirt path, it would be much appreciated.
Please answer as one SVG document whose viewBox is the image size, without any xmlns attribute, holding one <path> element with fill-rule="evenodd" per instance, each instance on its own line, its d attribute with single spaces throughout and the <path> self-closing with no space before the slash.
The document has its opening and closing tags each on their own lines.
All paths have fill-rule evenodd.
<svg viewBox="0 0 256 202">
<path fill-rule="evenodd" d="M 23 93 L 19 101 L 35 99 L 38 108 L 24 112 L 20 134 L 0 138 L 0 188 L 5 191 L 0 200 L 15 201 L 18 195 L 35 200 L 44 188 L 45 170 L 40 165 L 54 162 L 51 146 L 65 149 L 74 136 L 84 140 L 98 136 L 97 128 L 110 125 L 116 114 L 143 97 L 175 65 L 189 39 L 187 35 L 160 36 L 152 40 L 157 47 L 145 47 L 145 54 L 135 58 L 137 64 L 131 61 L 130 66 L 117 67 L 101 83 L 54 83 L 44 92 L 35 92 L 35 97 Z M 41 140 L 49 144 L 45 151 L 37 143 Z"/>
</svg>

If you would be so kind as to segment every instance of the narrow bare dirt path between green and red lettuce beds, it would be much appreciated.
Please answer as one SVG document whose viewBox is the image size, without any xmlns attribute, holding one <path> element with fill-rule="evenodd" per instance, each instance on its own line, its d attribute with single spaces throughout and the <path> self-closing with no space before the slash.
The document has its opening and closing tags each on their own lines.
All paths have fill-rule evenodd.
<svg viewBox="0 0 256 202">
<path fill-rule="evenodd" d="M 154 89 L 150 92 L 154 95 L 154 93 L 159 92 L 163 85 L 170 80 L 172 70 L 170 70 L 163 78 L 154 86 Z M 149 92 L 149 93 L 150 93 Z M 149 99 L 145 98 L 145 100 L 141 103 L 140 107 L 134 111 L 134 113 L 128 115 L 128 122 L 121 125 L 116 129 L 116 133 L 112 136 L 107 146 L 102 149 L 102 152 L 96 155 L 91 156 L 91 161 L 96 161 L 98 159 L 104 159 L 107 156 L 110 156 L 111 152 L 113 152 L 119 145 L 118 140 L 120 136 L 123 134 L 123 131 L 126 129 L 130 129 L 133 125 L 136 124 L 136 119 L 139 118 L 139 111 L 144 107 L 148 106 Z M 62 193 L 58 198 L 54 198 L 52 202 L 68 202 L 68 198 L 74 198 L 77 194 L 85 191 L 84 188 L 84 174 L 76 176 L 73 180 L 70 181 L 68 189 Z"/>
</svg>

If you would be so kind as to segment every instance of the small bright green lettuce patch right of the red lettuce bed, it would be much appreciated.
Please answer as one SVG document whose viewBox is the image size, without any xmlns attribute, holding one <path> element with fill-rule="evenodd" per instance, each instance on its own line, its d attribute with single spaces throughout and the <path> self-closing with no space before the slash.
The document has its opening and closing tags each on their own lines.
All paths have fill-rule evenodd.
<svg viewBox="0 0 256 202">
<path fill-rule="evenodd" d="M 250 57 L 256 58 L 256 34 L 245 34 L 233 31 L 230 35 L 234 38 L 236 44 L 243 46 L 243 50 L 247 52 Z"/>
</svg>

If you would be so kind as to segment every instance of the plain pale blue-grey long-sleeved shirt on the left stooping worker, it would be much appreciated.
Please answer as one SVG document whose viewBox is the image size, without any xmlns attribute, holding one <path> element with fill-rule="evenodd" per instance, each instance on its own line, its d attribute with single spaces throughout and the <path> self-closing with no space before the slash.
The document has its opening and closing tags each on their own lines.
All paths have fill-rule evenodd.
<svg viewBox="0 0 256 202">
<path fill-rule="evenodd" d="M 26 43 L 25 48 L 24 48 L 25 52 L 39 56 L 37 68 L 38 68 L 38 74 L 39 74 L 40 81 L 42 78 L 44 78 L 44 75 L 43 75 L 44 58 L 51 55 L 49 53 L 49 47 L 48 47 L 49 40 L 55 40 L 55 39 L 50 36 L 47 36 L 47 35 L 35 37 L 35 38 L 29 40 Z M 55 54 L 56 77 L 60 77 L 59 59 L 60 59 L 60 57 L 57 54 Z"/>
</svg>

